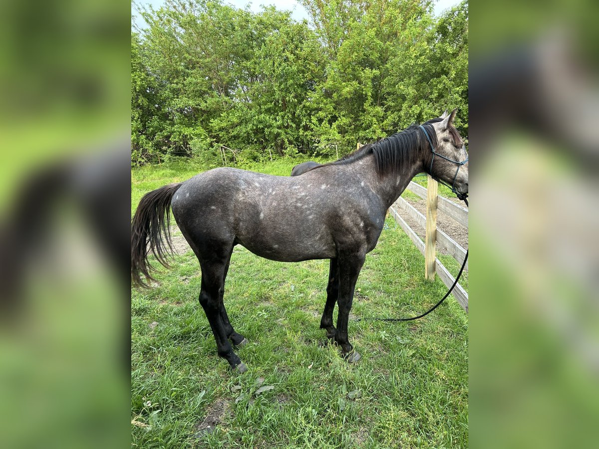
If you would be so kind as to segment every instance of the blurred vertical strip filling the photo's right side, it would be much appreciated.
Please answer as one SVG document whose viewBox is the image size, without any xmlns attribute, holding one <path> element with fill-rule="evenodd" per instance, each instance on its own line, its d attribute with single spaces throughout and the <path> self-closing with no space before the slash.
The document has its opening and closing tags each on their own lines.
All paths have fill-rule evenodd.
<svg viewBox="0 0 599 449">
<path fill-rule="evenodd" d="M 470 4 L 472 447 L 599 441 L 598 9 Z"/>
</svg>

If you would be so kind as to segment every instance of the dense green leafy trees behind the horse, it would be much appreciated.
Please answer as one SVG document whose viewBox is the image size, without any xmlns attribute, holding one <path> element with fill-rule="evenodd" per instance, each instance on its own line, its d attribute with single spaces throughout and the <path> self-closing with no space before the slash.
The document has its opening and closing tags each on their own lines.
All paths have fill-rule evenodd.
<svg viewBox="0 0 599 449">
<path fill-rule="evenodd" d="M 288 11 L 167 0 L 131 39 L 133 162 L 165 155 L 219 165 L 346 154 L 459 108 L 468 132 L 468 4 L 302 0 Z M 220 162 L 219 162 L 220 161 Z M 228 161 L 229 162 L 229 161 Z"/>
</svg>

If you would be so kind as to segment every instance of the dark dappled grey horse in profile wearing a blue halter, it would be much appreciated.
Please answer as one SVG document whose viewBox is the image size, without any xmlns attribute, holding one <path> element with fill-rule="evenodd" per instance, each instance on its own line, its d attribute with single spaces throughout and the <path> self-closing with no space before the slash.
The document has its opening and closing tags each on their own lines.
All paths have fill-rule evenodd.
<svg viewBox="0 0 599 449">
<path fill-rule="evenodd" d="M 377 244 L 386 210 L 422 171 L 452 183 L 458 197 L 468 195 L 468 157 L 453 126 L 455 115 L 453 110 L 412 125 L 301 176 L 215 168 L 147 193 L 131 223 L 132 281 L 147 287 L 153 280 L 149 253 L 168 267 L 172 210 L 201 267 L 199 304 L 217 352 L 241 373 L 247 366 L 233 347 L 247 339 L 235 332 L 223 301 L 235 245 L 282 262 L 330 259 L 320 328 L 348 362 L 357 362 L 360 354 L 349 342 L 347 321 L 356 280 Z"/>
</svg>

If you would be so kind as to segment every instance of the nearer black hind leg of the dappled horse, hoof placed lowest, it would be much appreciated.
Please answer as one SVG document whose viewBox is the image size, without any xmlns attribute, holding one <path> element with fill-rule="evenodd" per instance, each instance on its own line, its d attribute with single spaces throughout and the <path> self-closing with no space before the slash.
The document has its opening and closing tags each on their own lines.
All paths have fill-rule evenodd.
<svg viewBox="0 0 599 449">
<path fill-rule="evenodd" d="M 226 335 L 225 324 L 220 316 L 220 306 L 224 292 L 224 276 L 226 263 L 203 262 L 202 266 L 202 290 L 199 294 L 199 304 L 204 308 L 208 322 L 216 340 L 216 347 L 220 357 L 226 359 L 232 369 L 239 372 L 247 370 L 246 365 L 233 352 L 231 344 Z M 231 324 L 229 324 L 231 326 Z"/>
</svg>

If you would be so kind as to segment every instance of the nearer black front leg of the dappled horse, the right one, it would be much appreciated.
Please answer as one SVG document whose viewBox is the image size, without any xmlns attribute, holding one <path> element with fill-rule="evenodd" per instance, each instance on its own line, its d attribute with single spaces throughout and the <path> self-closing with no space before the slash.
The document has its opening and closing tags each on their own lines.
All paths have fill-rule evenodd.
<svg viewBox="0 0 599 449">
<path fill-rule="evenodd" d="M 353 291 L 356 288 L 356 281 L 358 281 L 362 265 L 364 265 L 365 254 L 352 251 L 340 254 L 338 259 L 339 296 L 337 304 L 339 305 L 339 314 L 335 342 L 341 346 L 343 356 L 348 362 L 357 362 L 360 359 L 360 354 L 353 351 L 353 347 L 347 339 L 347 321 L 349 320 L 349 311 L 352 310 Z"/>
</svg>

